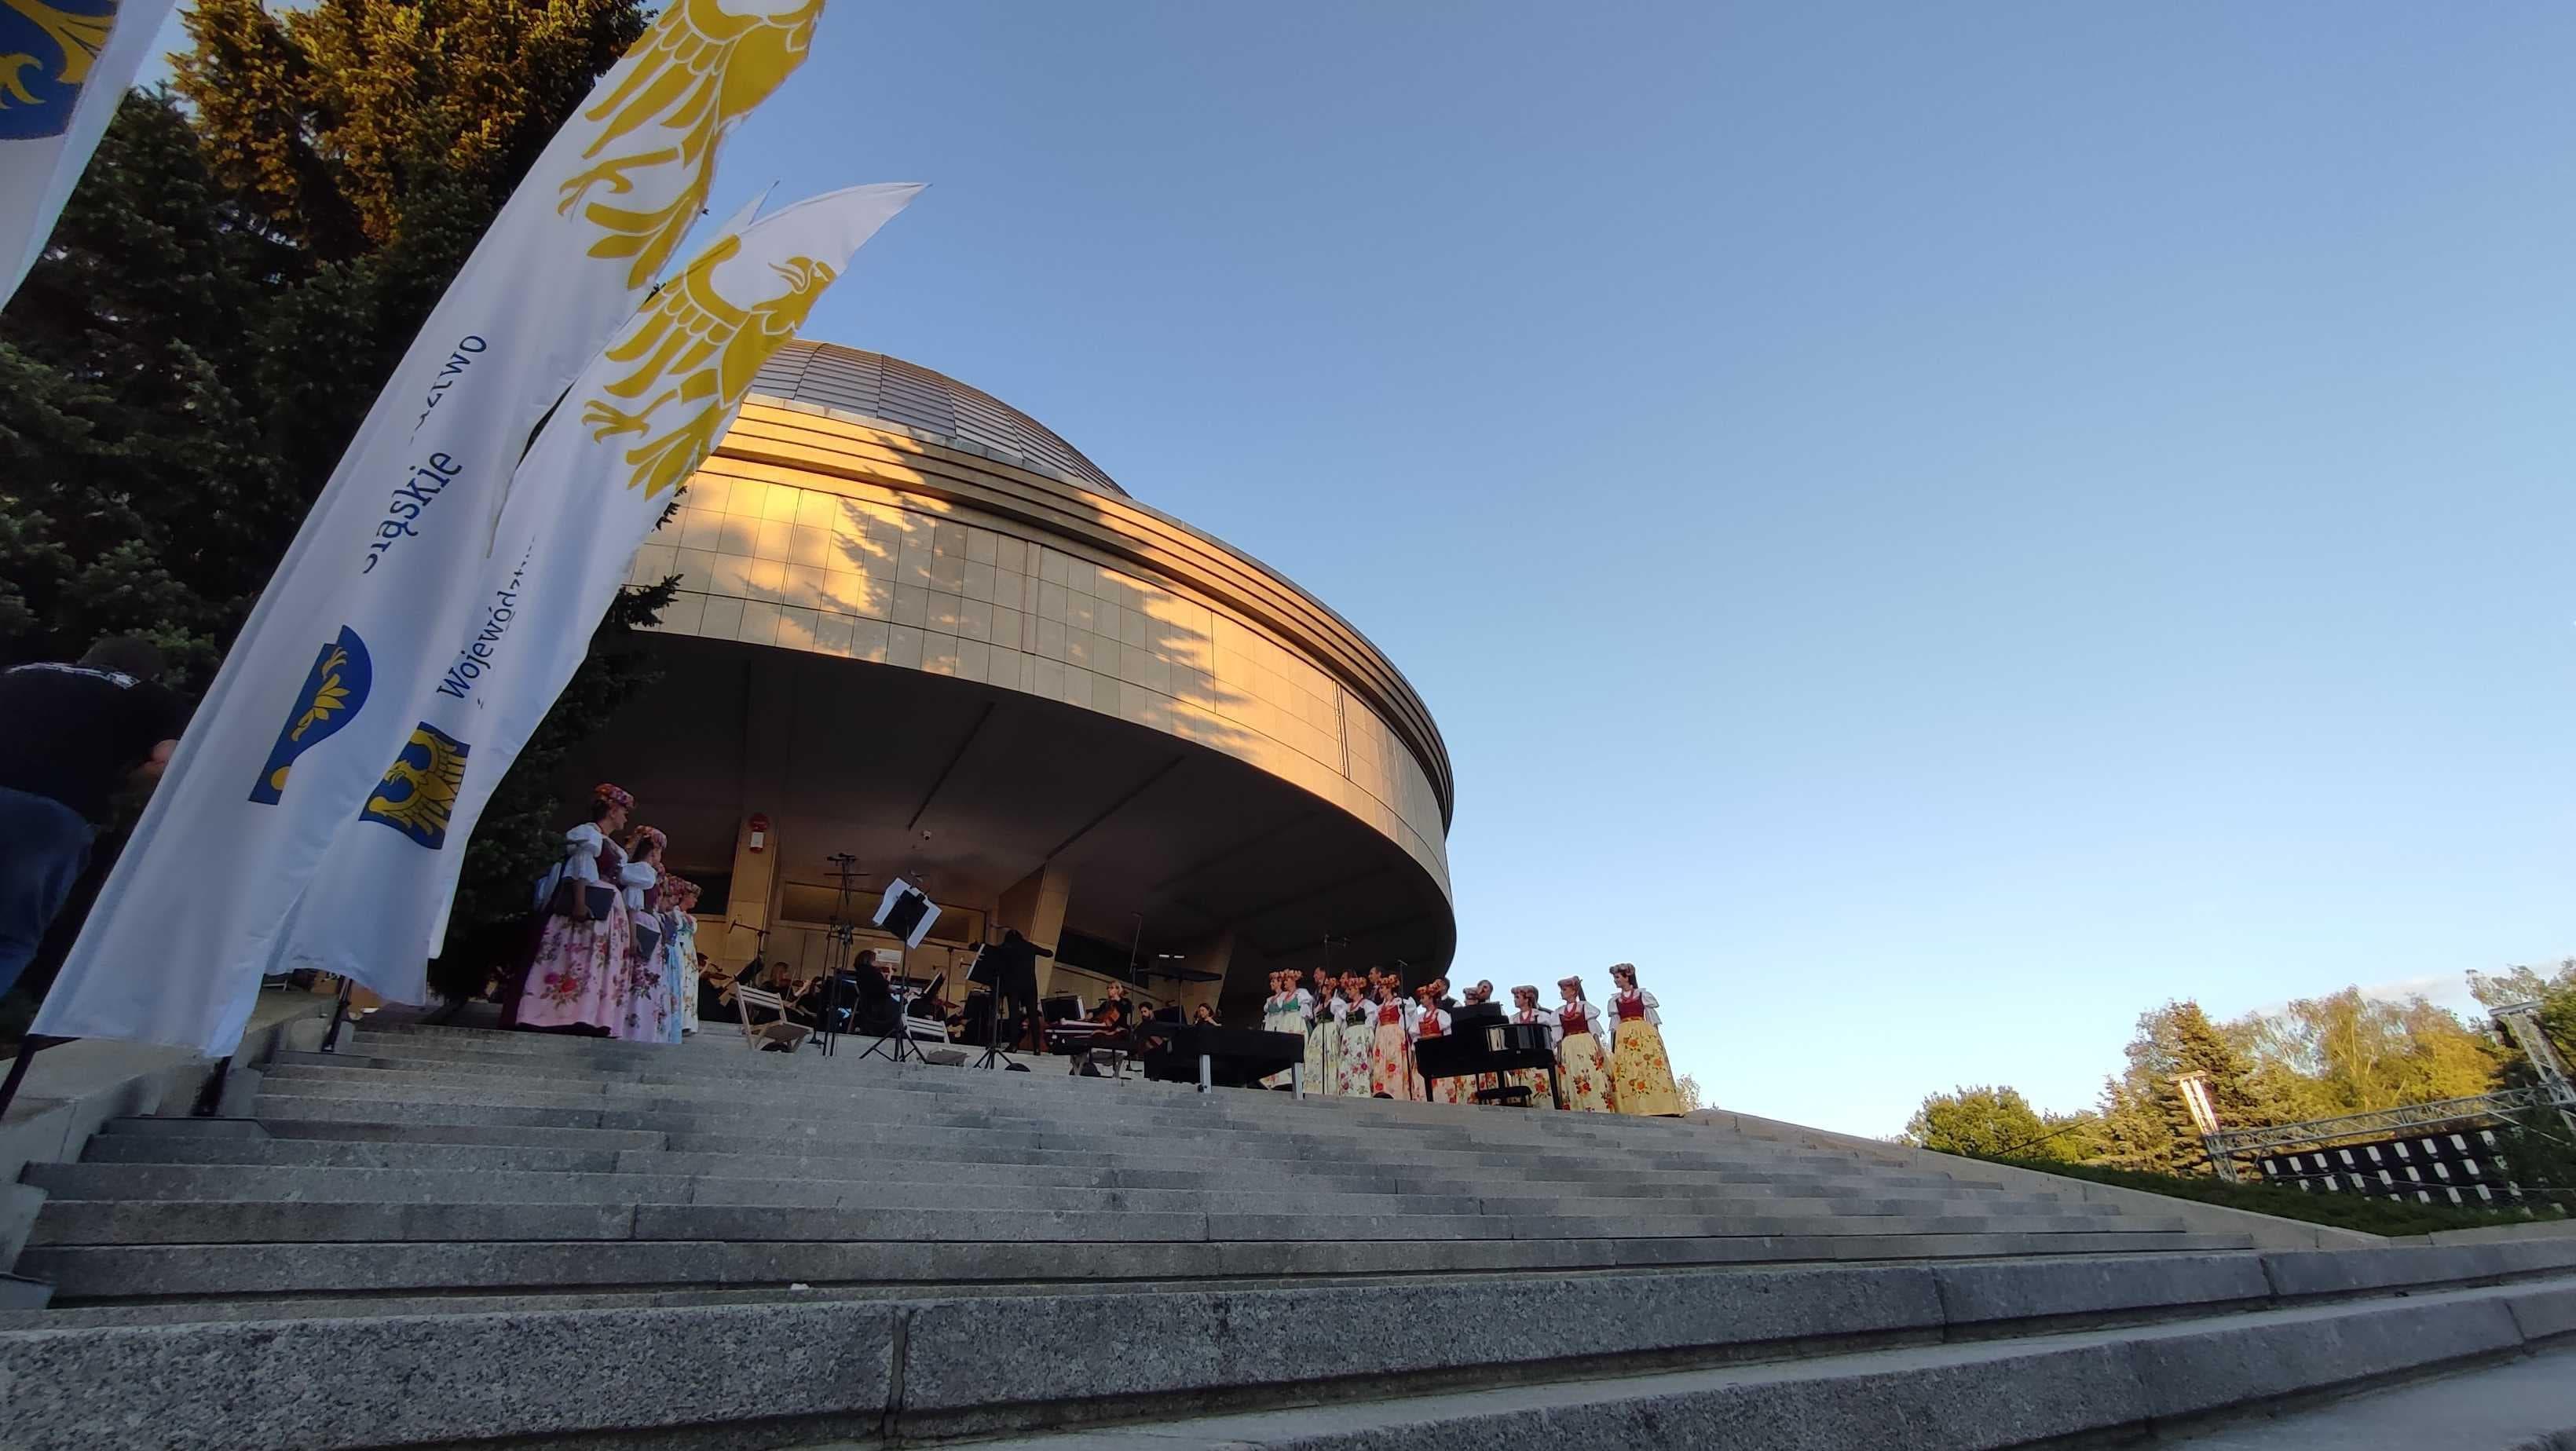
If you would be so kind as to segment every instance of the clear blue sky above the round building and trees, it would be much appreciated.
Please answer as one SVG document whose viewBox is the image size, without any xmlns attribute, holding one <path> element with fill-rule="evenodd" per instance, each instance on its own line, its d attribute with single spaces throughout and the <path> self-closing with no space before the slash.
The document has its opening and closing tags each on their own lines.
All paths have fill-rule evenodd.
<svg viewBox="0 0 2576 1451">
<path fill-rule="evenodd" d="M 1394 655 L 1461 974 L 1636 959 L 1713 1100 L 1886 1134 L 2084 1106 L 2172 995 L 2576 951 L 2571 54 L 2550 5 L 832 0 L 716 211 L 930 180 L 809 335 Z"/>
</svg>

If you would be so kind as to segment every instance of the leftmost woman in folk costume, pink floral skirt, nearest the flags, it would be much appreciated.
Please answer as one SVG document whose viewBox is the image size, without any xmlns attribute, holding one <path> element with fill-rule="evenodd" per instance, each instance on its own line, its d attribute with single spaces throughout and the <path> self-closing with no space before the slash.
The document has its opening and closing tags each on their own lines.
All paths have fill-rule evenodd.
<svg viewBox="0 0 2576 1451">
<path fill-rule="evenodd" d="M 564 863 L 538 889 L 546 928 L 528 964 L 515 1026 L 608 1036 L 626 1023 L 636 933 L 626 915 L 626 848 L 616 832 L 626 830 L 634 804 L 616 786 L 592 786 L 590 820 L 564 832 Z M 600 899 L 595 912 L 592 897 Z"/>
</svg>

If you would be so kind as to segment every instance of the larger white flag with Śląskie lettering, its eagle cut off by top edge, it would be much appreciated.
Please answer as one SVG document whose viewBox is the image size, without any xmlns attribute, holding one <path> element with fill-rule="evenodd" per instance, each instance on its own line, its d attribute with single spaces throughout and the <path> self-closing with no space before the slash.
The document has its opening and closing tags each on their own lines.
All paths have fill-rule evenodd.
<svg viewBox="0 0 2576 1451">
<path fill-rule="evenodd" d="M 240 1041 L 289 907 L 487 598 L 528 433 L 698 219 L 721 142 L 804 64 L 822 0 L 734 3 L 750 13 L 675 0 L 492 219 L 242 626 L 33 1031 Z"/>
</svg>

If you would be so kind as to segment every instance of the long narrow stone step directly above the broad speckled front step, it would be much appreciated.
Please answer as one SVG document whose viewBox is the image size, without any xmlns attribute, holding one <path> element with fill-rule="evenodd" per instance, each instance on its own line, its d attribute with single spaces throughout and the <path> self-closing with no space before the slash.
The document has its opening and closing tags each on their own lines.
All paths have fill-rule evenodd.
<svg viewBox="0 0 2576 1451">
<path fill-rule="evenodd" d="M 641 1211 L 636 1211 L 641 1214 Z M 549 1240 L 549 1242 L 214 1242 L 28 1247 L 21 1273 L 57 1304 L 188 1296 L 500 1291 L 598 1286 L 1043 1283 L 1092 1278 L 1296 1278 L 1334 1273 L 1561 1273 L 1772 1260 L 1937 1260 L 2241 1250 L 2241 1235 L 1960 1232 L 1710 1235 L 1613 1240 Z M 835 1227 L 840 1232 L 840 1227 Z"/>
</svg>

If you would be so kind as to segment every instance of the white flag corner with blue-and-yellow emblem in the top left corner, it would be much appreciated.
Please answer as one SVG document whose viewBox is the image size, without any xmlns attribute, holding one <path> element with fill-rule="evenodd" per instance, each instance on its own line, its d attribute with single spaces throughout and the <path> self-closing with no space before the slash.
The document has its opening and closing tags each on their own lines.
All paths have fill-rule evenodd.
<svg viewBox="0 0 2576 1451">
<path fill-rule="evenodd" d="M 173 0 L 0 0 L 0 304 L 108 134 Z"/>
</svg>

